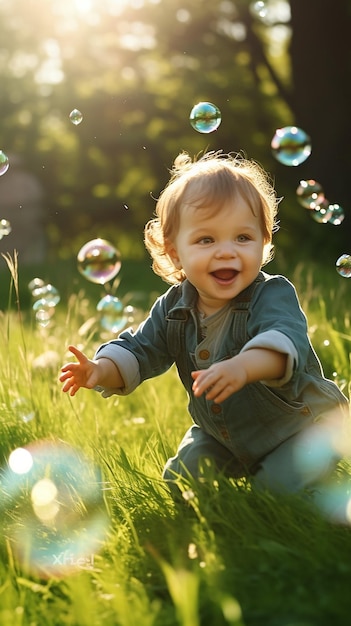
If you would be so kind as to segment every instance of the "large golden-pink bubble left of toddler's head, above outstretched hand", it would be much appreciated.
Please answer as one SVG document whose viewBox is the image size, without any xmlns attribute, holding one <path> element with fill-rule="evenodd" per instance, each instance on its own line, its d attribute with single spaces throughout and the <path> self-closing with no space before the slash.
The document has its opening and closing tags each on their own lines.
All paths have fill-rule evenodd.
<svg viewBox="0 0 351 626">
<path fill-rule="evenodd" d="M 78 270 L 90 282 L 104 285 L 121 269 L 120 253 L 105 239 L 92 239 L 79 250 Z"/>
</svg>

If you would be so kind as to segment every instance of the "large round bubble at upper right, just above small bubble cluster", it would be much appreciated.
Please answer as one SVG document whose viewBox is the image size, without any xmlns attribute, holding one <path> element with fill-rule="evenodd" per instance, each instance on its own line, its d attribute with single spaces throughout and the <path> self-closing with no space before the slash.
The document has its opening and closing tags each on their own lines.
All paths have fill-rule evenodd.
<svg viewBox="0 0 351 626">
<path fill-rule="evenodd" d="M 289 166 L 300 165 L 312 151 L 310 137 L 297 126 L 278 128 L 272 139 L 271 148 L 277 161 Z"/>
</svg>

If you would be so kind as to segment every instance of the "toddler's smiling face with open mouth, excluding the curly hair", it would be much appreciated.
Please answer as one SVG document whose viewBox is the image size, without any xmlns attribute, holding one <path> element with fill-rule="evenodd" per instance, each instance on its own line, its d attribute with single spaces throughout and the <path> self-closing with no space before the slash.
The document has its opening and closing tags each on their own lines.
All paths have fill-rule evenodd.
<svg viewBox="0 0 351 626">
<path fill-rule="evenodd" d="M 218 210 L 183 205 L 167 253 L 197 289 L 200 311 L 211 315 L 255 280 L 264 245 L 259 216 L 236 195 Z"/>
</svg>

